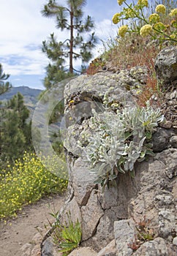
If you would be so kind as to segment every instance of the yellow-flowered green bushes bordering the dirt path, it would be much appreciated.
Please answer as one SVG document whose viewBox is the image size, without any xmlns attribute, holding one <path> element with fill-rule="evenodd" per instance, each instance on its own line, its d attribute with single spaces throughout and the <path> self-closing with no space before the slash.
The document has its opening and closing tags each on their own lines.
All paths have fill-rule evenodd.
<svg viewBox="0 0 177 256">
<path fill-rule="evenodd" d="M 56 159 L 50 159 L 51 170 Z M 35 154 L 23 155 L 15 165 L 0 173 L 0 219 L 15 216 L 22 206 L 34 203 L 44 195 L 64 192 L 67 176 L 59 178 L 47 170 Z"/>
</svg>

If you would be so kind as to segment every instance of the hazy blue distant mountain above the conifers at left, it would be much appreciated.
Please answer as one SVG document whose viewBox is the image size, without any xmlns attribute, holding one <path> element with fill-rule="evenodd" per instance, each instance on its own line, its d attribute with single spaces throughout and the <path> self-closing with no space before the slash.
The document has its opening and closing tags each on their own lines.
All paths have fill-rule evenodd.
<svg viewBox="0 0 177 256">
<path fill-rule="evenodd" d="M 38 102 L 37 97 L 42 92 L 42 90 L 31 89 L 28 86 L 12 87 L 5 94 L 0 95 L 0 101 L 4 101 L 4 100 L 7 101 L 9 99 L 12 99 L 12 97 L 18 92 L 20 92 L 20 94 L 23 95 L 26 107 L 28 107 L 29 110 L 33 111 L 35 108 L 35 105 Z"/>
</svg>

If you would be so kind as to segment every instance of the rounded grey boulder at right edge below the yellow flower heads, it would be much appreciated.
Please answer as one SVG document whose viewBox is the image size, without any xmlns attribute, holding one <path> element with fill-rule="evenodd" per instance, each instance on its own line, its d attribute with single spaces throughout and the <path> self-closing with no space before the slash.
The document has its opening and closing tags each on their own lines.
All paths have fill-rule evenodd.
<svg viewBox="0 0 177 256">
<path fill-rule="evenodd" d="M 177 80 L 177 47 L 170 46 L 160 51 L 155 60 L 155 70 L 159 80 L 165 84 Z"/>
</svg>

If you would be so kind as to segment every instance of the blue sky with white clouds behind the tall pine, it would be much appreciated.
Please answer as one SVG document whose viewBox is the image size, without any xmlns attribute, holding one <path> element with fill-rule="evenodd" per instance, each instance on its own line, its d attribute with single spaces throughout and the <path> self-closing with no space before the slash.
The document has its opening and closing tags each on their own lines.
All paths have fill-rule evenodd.
<svg viewBox="0 0 177 256">
<path fill-rule="evenodd" d="M 57 2 L 64 5 L 66 0 Z M 4 72 L 10 74 L 12 86 L 44 89 L 42 80 L 50 60 L 42 53 L 42 41 L 53 32 L 59 41 L 67 38 L 67 32 L 56 29 L 53 18 L 42 16 L 41 10 L 47 3 L 48 0 L 1 0 L 0 63 Z M 116 37 L 117 26 L 111 19 L 119 8 L 116 0 L 87 0 L 84 15 L 94 19 L 94 31 L 100 39 L 94 57 L 104 49 L 101 40 Z"/>
</svg>

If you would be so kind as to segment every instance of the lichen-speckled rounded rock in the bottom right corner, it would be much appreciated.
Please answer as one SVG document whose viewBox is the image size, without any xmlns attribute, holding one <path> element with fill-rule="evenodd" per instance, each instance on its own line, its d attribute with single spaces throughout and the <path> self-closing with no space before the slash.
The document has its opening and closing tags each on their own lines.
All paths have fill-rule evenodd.
<svg viewBox="0 0 177 256">
<path fill-rule="evenodd" d="M 177 247 L 171 246 L 163 238 L 155 238 L 152 241 L 147 241 L 133 254 L 135 256 L 176 256 Z"/>
</svg>

